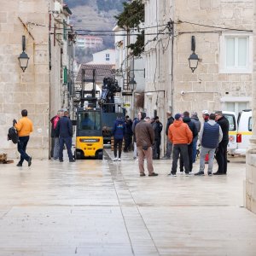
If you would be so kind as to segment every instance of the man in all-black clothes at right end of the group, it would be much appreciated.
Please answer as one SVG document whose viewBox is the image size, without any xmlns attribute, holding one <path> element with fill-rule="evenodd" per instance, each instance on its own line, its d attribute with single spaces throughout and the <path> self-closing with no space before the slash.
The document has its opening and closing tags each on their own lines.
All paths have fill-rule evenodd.
<svg viewBox="0 0 256 256">
<path fill-rule="evenodd" d="M 227 148 L 228 148 L 228 143 L 229 143 L 230 123 L 229 123 L 229 120 L 224 117 L 222 111 L 215 112 L 215 118 L 223 132 L 223 139 L 218 144 L 218 151 L 216 153 L 216 160 L 218 162 L 218 171 L 214 172 L 213 174 L 214 175 L 225 175 L 225 174 L 227 174 L 227 163 L 228 163 Z"/>
</svg>

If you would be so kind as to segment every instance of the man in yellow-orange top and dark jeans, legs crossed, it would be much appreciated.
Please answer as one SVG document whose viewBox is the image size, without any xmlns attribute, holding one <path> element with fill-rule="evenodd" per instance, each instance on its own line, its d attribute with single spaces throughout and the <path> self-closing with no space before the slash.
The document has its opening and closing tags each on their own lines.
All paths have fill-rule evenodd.
<svg viewBox="0 0 256 256">
<path fill-rule="evenodd" d="M 26 160 L 28 166 L 32 164 L 32 157 L 26 154 L 26 145 L 29 141 L 29 135 L 33 131 L 32 120 L 27 118 L 27 110 L 23 109 L 21 111 L 22 118 L 18 121 L 14 119 L 15 129 L 18 131 L 19 141 L 18 141 L 18 151 L 20 153 L 20 161 L 17 166 L 22 166 L 23 161 Z"/>
</svg>

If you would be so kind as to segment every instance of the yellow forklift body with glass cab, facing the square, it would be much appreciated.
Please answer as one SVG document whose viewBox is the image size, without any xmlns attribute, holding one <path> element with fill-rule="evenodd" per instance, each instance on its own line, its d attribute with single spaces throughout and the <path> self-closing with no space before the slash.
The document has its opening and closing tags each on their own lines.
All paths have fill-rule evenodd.
<svg viewBox="0 0 256 256">
<path fill-rule="evenodd" d="M 102 110 L 79 108 L 75 158 L 103 159 Z"/>
</svg>

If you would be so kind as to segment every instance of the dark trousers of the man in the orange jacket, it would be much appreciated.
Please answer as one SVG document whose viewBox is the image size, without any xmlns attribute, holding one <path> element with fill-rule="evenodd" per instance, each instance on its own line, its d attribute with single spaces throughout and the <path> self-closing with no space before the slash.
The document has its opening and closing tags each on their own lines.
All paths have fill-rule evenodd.
<svg viewBox="0 0 256 256">
<path fill-rule="evenodd" d="M 177 160 L 179 154 L 183 157 L 183 163 L 185 167 L 185 172 L 189 173 L 189 154 L 188 154 L 188 144 L 175 144 L 173 145 L 173 160 L 172 160 L 172 174 L 177 172 Z"/>
</svg>

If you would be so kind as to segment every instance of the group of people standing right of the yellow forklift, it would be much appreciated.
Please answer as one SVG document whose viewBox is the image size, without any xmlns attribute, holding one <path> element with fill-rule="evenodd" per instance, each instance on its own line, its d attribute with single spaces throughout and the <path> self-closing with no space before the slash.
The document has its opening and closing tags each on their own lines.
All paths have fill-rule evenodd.
<svg viewBox="0 0 256 256">
<path fill-rule="evenodd" d="M 179 160 L 180 172 L 187 176 L 192 174 L 193 164 L 198 154 L 197 146 L 200 145 L 200 167 L 196 176 L 204 175 L 205 164 L 208 164 L 209 176 L 224 175 L 227 173 L 227 146 L 229 143 L 229 120 L 221 111 L 209 113 L 202 111 L 203 124 L 196 112 L 191 115 L 188 111 L 176 113 L 174 118 L 171 112 L 166 113 L 166 154 L 163 160 L 172 157 L 172 171 L 170 176 L 176 176 L 177 161 Z M 157 176 L 154 172 L 153 160 L 160 159 L 161 131 L 163 125 L 159 117 L 150 119 L 146 113 L 139 112 L 133 122 L 129 116 L 122 120 L 121 116 L 113 126 L 114 160 L 121 160 L 122 142 L 125 137 L 125 149 L 127 152 L 131 146 L 131 137 L 134 142 L 134 158 L 138 158 L 138 166 L 141 176 L 145 176 L 144 160 L 147 160 L 148 175 Z M 129 131 L 128 134 L 126 131 Z M 119 147 L 119 158 L 117 148 Z M 218 171 L 213 173 L 214 157 L 218 163 Z"/>
</svg>

